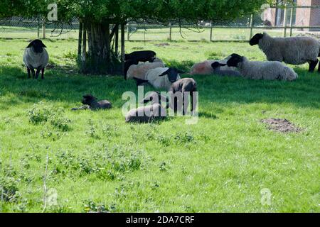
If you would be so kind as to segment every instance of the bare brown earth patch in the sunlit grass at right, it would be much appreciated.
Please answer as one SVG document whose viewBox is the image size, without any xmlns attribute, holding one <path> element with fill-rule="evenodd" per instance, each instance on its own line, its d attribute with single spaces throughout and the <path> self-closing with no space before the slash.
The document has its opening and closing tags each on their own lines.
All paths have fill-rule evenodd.
<svg viewBox="0 0 320 227">
<path fill-rule="evenodd" d="M 302 131 L 302 128 L 294 126 L 294 124 L 287 119 L 269 118 L 264 119 L 261 122 L 269 125 L 268 128 L 270 130 L 280 133 L 299 133 L 300 131 Z"/>
</svg>

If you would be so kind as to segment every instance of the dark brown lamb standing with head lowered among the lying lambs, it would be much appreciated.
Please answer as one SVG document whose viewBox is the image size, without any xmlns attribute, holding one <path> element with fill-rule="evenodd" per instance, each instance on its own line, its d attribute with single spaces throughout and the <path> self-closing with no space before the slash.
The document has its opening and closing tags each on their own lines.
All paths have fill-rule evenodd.
<svg viewBox="0 0 320 227">
<path fill-rule="evenodd" d="M 192 78 L 183 78 L 174 82 L 171 85 L 171 88 L 169 90 L 169 94 L 171 96 L 170 107 L 171 109 L 174 109 L 175 113 L 176 111 L 178 111 L 178 109 L 183 109 L 183 115 L 185 115 L 186 112 L 188 111 L 189 94 L 186 92 L 189 92 L 191 96 L 191 113 L 193 113 L 193 110 L 196 109 L 197 99 L 195 99 L 195 102 L 193 103 L 193 100 L 194 100 L 193 92 L 197 92 L 197 83 Z M 180 99 L 179 99 L 179 95 L 180 95 Z"/>
</svg>

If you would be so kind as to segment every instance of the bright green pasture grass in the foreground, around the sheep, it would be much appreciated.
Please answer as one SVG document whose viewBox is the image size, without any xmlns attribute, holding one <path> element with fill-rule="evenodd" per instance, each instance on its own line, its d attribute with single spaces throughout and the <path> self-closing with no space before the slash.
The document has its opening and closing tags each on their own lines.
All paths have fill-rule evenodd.
<svg viewBox="0 0 320 227">
<path fill-rule="evenodd" d="M 138 125 L 121 114 L 134 81 L 78 74 L 75 40 L 45 40 L 55 67 L 43 81 L 26 79 L 27 43 L 0 40 L 0 211 L 320 211 L 320 75 L 307 65 L 294 67 L 295 82 L 196 76 L 198 124 L 180 117 Z M 232 52 L 265 60 L 247 43 L 155 44 L 130 42 L 127 51 L 152 49 L 185 70 Z M 70 111 L 85 93 L 113 109 Z M 269 131 L 260 121 L 272 117 L 304 131 Z M 44 178 L 48 197 L 58 194 L 45 210 Z M 261 203 L 265 188 L 270 205 Z"/>
</svg>

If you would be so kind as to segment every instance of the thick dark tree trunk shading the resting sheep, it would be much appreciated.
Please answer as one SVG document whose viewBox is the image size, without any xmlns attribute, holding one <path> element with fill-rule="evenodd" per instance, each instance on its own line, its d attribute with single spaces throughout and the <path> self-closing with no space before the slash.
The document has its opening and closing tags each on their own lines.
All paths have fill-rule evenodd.
<svg viewBox="0 0 320 227">
<path fill-rule="evenodd" d="M 90 74 L 119 73 L 119 60 L 111 49 L 110 24 L 86 22 L 84 31 L 87 31 L 88 52 L 81 71 Z"/>
</svg>

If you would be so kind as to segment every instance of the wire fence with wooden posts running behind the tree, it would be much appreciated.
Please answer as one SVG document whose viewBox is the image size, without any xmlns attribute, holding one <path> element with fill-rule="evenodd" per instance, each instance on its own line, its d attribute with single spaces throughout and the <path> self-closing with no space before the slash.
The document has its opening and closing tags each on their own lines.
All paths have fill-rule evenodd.
<svg viewBox="0 0 320 227">
<path fill-rule="evenodd" d="M 299 1 L 299 0 L 297 0 Z M 313 35 L 320 38 L 319 6 L 269 7 L 235 21 L 199 21 L 196 27 L 175 23 L 166 25 L 130 22 L 126 39 L 132 41 L 247 41 L 253 34 L 267 31 L 273 36 Z M 6 18 L 0 20 L 0 38 L 78 39 L 78 20 L 70 24 L 42 23 L 38 19 Z"/>
</svg>

